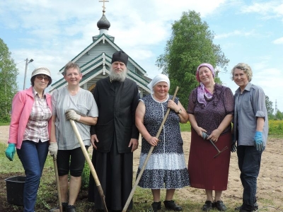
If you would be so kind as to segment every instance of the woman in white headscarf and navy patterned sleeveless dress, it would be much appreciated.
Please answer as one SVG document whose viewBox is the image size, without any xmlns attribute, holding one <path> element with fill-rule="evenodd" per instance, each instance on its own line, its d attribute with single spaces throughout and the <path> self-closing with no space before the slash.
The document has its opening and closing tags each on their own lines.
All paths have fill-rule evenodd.
<svg viewBox="0 0 283 212">
<path fill-rule="evenodd" d="M 178 98 L 173 101 L 172 96 L 168 95 L 170 81 L 166 75 L 158 74 L 148 87 L 152 94 L 142 98 L 136 110 L 136 125 L 142 136 L 137 176 L 149 149 L 151 146 L 155 147 L 139 181 L 139 187 L 151 189 L 154 196 L 152 211 L 161 209 L 160 189 L 164 188 L 165 207 L 173 211 L 182 211 L 182 208 L 173 201 L 173 195 L 175 189 L 190 185 L 179 126 L 179 123 L 187 123 L 188 114 Z M 167 108 L 171 111 L 160 136 L 156 138 Z"/>
</svg>

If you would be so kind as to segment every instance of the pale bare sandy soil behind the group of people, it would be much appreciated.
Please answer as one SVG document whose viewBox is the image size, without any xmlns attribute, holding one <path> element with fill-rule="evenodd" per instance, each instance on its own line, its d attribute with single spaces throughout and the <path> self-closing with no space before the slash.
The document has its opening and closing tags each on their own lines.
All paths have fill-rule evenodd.
<svg viewBox="0 0 283 212">
<path fill-rule="evenodd" d="M 190 152 L 190 132 L 182 133 L 184 141 L 184 152 L 186 161 Z M 0 142 L 6 143 L 8 140 L 8 126 L 0 126 Z M 139 142 L 141 144 L 141 142 Z M 134 172 L 137 172 L 139 165 L 139 153 L 141 146 L 134 152 Z M 91 151 L 91 150 L 90 150 Z M 134 173 L 134 176 L 135 176 Z M 13 173 L 13 175 L 15 175 Z M 21 173 L 21 175 L 23 175 Z M 238 159 L 236 153 L 231 153 L 229 168 L 228 189 L 223 192 L 224 202 L 241 203 L 243 188 L 240 180 L 240 171 L 238 170 Z M 3 211 L 6 203 L 6 182 L 4 179 L 9 175 L 0 176 L 0 211 Z M 84 196 L 84 195 L 83 195 Z M 267 147 L 262 153 L 262 163 L 260 175 L 258 177 L 258 203 L 261 205 L 270 205 L 283 209 L 283 138 L 269 139 Z M 175 192 L 175 199 L 191 199 L 196 202 L 205 201 L 205 193 L 202 189 L 186 187 L 178 189 Z M 6 208 L 6 207 L 5 207 Z"/>
</svg>

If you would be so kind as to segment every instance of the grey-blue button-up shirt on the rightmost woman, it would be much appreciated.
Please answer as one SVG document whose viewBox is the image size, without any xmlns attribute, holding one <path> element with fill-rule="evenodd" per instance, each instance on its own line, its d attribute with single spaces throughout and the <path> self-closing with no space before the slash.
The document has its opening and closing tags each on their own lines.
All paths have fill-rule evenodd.
<svg viewBox="0 0 283 212">
<path fill-rule="evenodd" d="M 241 94 L 238 88 L 234 95 L 235 114 L 233 133 L 236 135 L 238 129 L 238 146 L 254 146 L 257 118 L 262 117 L 265 123 L 262 131 L 262 143 L 266 146 L 268 136 L 268 117 L 265 106 L 265 93 L 259 86 L 248 83 Z"/>
</svg>

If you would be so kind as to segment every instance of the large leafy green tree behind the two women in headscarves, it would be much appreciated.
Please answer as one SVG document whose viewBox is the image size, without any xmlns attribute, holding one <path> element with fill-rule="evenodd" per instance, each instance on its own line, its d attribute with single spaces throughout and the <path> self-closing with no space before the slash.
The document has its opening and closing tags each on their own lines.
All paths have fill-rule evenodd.
<svg viewBox="0 0 283 212">
<path fill-rule="evenodd" d="M 171 81 L 170 93 L 180 86 L 178 97 L 187 108 L 187 99 L 191 91 L 198 86 L 195 78 L 197 66 L 202 63 L 224 68 L 229 63 L 219 45 L 214 45 L 214 33 L 195 11 L 183 12 L 180 20 L 172 25 L 172 35 L 168 40 L 165 53 L 156 60 L 162 73 Z M 221 83 L 216 69 L 216 82 Z"/>
</svg>

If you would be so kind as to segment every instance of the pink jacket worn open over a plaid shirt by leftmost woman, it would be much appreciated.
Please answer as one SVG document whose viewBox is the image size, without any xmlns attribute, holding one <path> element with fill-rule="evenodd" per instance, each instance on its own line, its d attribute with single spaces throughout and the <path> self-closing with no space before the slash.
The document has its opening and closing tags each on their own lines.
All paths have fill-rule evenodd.
<svg viewBox="0 0 283 212">
<path fill-rule="evenodd" d="M 47 105 L 52 111 L 51 95 L 46 94 Z M 23 134 L 25 126 L 28 124 L 28 118 L 33 108 L 33 87 L 27 90 L 19 91 L 13 98 L 12 116 L 10 123 L 8 143 L 15 143 L 16 148 L 21 148 L 23 143 Z M 48 133 L 51 135 L 51 119 L 48 121 Z"/>
</svg>

